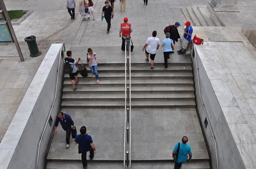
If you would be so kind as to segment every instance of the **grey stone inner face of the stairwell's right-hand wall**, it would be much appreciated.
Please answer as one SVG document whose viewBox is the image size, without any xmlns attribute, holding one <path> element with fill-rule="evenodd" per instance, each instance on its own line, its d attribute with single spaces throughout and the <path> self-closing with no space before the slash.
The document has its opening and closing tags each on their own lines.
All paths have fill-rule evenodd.
<svg viewBox="0 0 256 169">
<path fill-rule="evenodd" d="M 204 69 L 204 66 L 201 62 L 200 57 L 198 56 L 198 52 L 195 50 L 195 54 L 197 56 L 197 64 L 198 64 L 198 78 L 201 90 L 201 99 L 203 104 L 201 104 L 201 100 L 199 97 L 198 90 L 198 78 L 196 72 L 196 64 L 195 58 L 193 57 L 193 48 L 191 52 L 192 58 L 192 67 L 193 67 L 193 75 L 194 75 L 194 87 L 195 87 L 195 97 L 197 104 L 197 112 L 199 121 L 201 123 L 201 128 L 204 133 L 204 138 L 207 144 L 207 149 L 209 152 L 209 157 L 211 161 L 211 168 L 216 169 L 216 156 L 215 156 L 215 146 L 214 141 L 212 139 L 212 134 L 209 129 L 209 124 L 212 127 L 213 135 L 215 135 L 215 141 L 217 145 L 218 152 L 218 165 L 219 169 L 245 169 L 244 162 L 242 161 L 239 150 L 236 146 L 235 140 L 232 136 L 230 128 L 227 124 L 224 113 L 221 110 L 221 106 L 217 100 L 215 92 L 212 88 L 210 80 L 207 76 L 207 73 Z M 204 113 L 203 106 L 206 110 L 207 117 L 209 119 L 208 126 L 205 127 L 204 121 L 206 115 Z"/>
</svg>

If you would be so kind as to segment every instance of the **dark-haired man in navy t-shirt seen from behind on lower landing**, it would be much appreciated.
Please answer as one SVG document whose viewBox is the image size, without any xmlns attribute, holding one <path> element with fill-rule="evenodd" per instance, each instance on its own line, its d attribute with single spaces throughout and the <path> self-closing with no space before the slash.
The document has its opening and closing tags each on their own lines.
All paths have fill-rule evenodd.
<svg viewBox="0 0 256 169">
<path fill-rule="evenodd" d="M 87 167 L 87 159 L 86 159 L 86 153 L 90 152 L 90 160 L 93 160 L 94 155 L 96 154 L 95 145 L 93 143 L 93 139 L 90 135 L 86 133 L 86 127 L 82 126 L 80 129 L 79 135 L 76 135 L 74 144 L 79 144 L 79 154 L 81 153 L 82 158 L 82 164 L 83 168 L 86 169 Z"/>
</svg>

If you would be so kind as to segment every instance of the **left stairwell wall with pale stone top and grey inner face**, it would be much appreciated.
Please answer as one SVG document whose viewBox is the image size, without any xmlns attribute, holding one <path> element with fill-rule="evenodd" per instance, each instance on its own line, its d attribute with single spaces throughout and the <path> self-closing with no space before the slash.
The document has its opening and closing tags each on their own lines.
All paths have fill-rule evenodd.
<svg viewBox="0 0 256 169">
<path fill-rule="evenodd" d="M 3 138 L 3 144 L 0 144 L 1 169 L 36 169 L 38 144 L 55 98 L 60 49 L 61 44 L 52 44 L 49 48 Z M 64 51 L 63 47 L 62 50 Z M 54 122 L 60 110 L 64 77 L 63 59 L 61 58 L 59 69 L 57 97 L 51 113 L 52 125 L 48 123 L 44 133 L 38 169 L 44 169 L 46 166 Z M 5 152 L 9 152 L 8 155 Z"/>
</svg>

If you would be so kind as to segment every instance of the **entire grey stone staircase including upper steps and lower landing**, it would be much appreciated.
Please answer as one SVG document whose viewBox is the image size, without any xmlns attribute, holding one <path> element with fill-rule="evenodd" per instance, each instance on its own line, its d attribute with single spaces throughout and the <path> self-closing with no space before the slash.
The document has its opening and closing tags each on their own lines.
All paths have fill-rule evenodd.
<svg viewBox="0 0 256 169">
<path fill-rule="evenodd" d="M 175 57 L 179 59 L 173 59 Z M 192 62 L 186 56 L 173 54 L 171 58 L 168 70 L 163 68 L 163 63 L 155 63 L 153 71 L 149 70 L 149 63 L 131 64 L 132 169 L 174 168 L 171 154 L 183 135 L 189 137 L 193 159 L 184 163 L 182 169 L 210 169 L 195 110 Z M 88 169 L 123 168 L 124 66 L 99 64 L 99 84 L 88 70 L 89 77 L 79 75 L 76 91 L 72 89 L 69 75 L 64 76 L 61 111 L 71 115 L 77 129 L 87 126 L 87 133 L 96 145 L 96 155 L 93 161 L 88 161 Z M 82 169 L 78 146 L 64 147 L 65 132 L 59 125 L 46 169 Z"/>
</svg>

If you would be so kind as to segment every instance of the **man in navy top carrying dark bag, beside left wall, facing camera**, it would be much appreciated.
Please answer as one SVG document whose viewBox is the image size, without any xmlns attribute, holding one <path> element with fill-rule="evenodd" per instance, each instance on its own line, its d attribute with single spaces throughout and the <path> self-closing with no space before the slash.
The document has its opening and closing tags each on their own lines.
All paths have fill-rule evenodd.
<svg viewBox="0 0 256 169">
<path fill-rule="evenodd" d="M 63 112 L 58 113 L 58 117 L 56 118 L 56 121 L 55 121 L 56 134 L 57 134 L 57 127 L 59 122 L 61 123 L 61 127 L 63 128 L 63 130 L 66 131 L 66 143 L 67 143 L 66 149 L 68 149 L 70 144 L 70 133 L 71 133 L 72 127 L 73 127 L 73 130 L 75 130 L 74 121 L 72 120 L 70 115 L 65 114 Z"/>
</svg>

